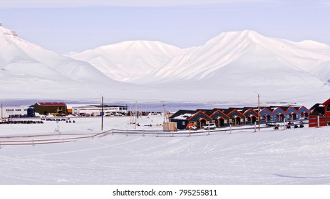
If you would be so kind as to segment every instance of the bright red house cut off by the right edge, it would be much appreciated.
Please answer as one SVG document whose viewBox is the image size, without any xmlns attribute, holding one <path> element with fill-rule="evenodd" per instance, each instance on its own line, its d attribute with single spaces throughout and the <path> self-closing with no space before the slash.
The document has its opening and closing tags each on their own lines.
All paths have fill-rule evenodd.
<svg viewBox="0 0 330 199">
<path fill-rule="evenodd" d="M 315 104 L 309 114 L 309 127 L 323 127 L 330 125 L 330 99 L 323 104 Z"/>
</svg>

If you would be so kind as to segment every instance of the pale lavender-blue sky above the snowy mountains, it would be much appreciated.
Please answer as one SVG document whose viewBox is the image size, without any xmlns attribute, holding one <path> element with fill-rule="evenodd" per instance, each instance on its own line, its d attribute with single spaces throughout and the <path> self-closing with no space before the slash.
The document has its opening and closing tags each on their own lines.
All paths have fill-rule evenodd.
<svg viewBox="0 0 330 199">
<path fill-rule="evenodd" d="M 257 31 L 330 45 L 330 0 L 11 0 L 0 22 L 58 53 L 128 40 L 202 45 L 224 31 Z"/>
</svg>

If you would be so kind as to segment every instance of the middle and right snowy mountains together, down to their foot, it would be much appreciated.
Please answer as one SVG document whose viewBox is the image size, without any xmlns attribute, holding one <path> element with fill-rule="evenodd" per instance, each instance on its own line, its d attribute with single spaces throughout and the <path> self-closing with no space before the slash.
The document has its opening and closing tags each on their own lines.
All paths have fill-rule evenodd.
<svg viewBox="0 0 330 199">
<path fill-rule="evenodd" d="M 329 45 L 270 38 L 255 31 L 221 33 L 188 49 L 130 41 L 72 57 L 108 77 L 155 87 L 182 100 L 244 99 L 257 90 L 276 101 L 330 90 Z"/>
</svg>

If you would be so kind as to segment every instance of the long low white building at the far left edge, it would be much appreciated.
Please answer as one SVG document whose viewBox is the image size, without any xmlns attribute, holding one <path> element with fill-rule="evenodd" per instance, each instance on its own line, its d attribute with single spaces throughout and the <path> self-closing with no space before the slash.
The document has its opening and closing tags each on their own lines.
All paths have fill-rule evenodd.
<svg viewBox="0 0 330 199">
<path fill-rule="evenodd" d="M 2 107 L 1 118 L 34 117 L 33 107 Z"/>
</svg>

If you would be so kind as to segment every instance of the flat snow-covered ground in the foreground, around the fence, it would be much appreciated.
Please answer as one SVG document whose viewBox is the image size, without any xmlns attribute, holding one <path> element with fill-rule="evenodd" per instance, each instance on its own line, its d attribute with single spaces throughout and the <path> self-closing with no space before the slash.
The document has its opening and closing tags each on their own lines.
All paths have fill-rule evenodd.
<svg viewBox="0 0 330 199">
<path fill-rule="evenodd" d="M 100 133 L 100 117 L 74 120 L 1 124 L 0 184 L 330 184 L 330 127 L 173 137 L 108 134 L 4 145 L 36 135 L 62 139 Z M 129 122 L 129 117 L 105 117 L 103 129 L 134 129 Z M 161 124 L 163 117 L 138 122 L 138 129 L 161 129 L 144 125 Z M 57 125 L 61 134 L 54 131 Z"/>
</svg>

